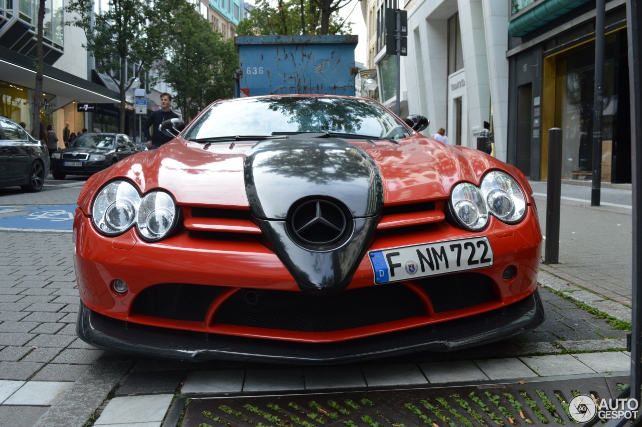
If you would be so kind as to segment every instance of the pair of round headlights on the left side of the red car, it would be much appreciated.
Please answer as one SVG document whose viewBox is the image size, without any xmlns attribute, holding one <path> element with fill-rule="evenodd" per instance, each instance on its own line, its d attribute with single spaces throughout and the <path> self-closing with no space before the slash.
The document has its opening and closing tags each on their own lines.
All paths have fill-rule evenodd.
<svg viewBox="0 0 642 427">
<path fill-rule="evenodd" d="M 92 222 L 105 236 L 117 236 L 136 226 L 146 241 L 157 241 L 174 229 L 178 209 L 165 191 L 150 191 L 141 196 L 126 180 L 112 181 L 94 198 Z"/>
</svg>

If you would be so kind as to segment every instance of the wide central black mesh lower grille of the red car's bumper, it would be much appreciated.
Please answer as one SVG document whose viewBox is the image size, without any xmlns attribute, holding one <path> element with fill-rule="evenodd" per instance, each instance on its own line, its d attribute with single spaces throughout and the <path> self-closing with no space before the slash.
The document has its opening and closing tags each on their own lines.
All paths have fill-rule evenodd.
<svg viewBox="0 0 642 427">
<path fill-rule="evenodd" d="M 392 322 L 424 313 L 419 297 L 406 286 L 384 284 L 348 290 L 338 295 L 270 290 L 237 292 L 221 306 L 214 322 L 286 331 L 327 332 Z"/>
</svg>

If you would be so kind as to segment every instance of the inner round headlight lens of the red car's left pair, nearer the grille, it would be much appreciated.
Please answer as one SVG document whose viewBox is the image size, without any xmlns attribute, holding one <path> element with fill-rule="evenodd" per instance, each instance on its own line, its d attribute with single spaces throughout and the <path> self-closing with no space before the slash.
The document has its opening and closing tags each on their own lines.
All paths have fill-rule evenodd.
<svg viewBox="0 0 642 427">
<path fill-rule="evenodd" d="M 174 227 L 176 204 L 168 193 L 153 191 L 143 197 L 138 211 L 137 228 L 145 240 L 160 240 Z"/>
</svg>

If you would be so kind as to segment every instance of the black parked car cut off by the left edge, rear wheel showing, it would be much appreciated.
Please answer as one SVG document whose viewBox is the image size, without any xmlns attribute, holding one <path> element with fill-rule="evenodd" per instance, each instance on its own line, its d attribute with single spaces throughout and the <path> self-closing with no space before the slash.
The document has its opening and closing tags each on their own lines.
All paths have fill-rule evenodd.
<svg viewBox="0 0 642 427">
<path fill-rule="evenodd" d="M 0 118 L 0 187 L 21 186 L 35 193 L 48 172 L 47 146 L 15 121 Z"/>
</svg>

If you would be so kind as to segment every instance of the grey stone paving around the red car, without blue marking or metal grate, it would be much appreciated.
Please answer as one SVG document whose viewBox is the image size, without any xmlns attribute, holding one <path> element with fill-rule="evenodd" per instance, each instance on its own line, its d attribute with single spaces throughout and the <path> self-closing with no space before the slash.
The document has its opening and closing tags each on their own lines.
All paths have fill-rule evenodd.
<svg viewBox="0 0 642 427">
<path fill-rule="evenodd" d="M 35 195 L 0 189 L 0 206 L 69 204 L 79 191 L 51 183 Z M 537 204 L 543 229 L 544 200 Z M 103 426 L 160 426 L 166 416 L 163 425 L 175 426 L 172 411 L 166 415 L 175 392 L 307 390 L 323 378 L 337 387 L 379 387 L 626 373 L 625 333 L 558 293 L 630 320 L 623 305 L 630 304 L 630 228 L 625 209 L 562 203 L 560 264 L 542 265 L 548 318 L 535 331 L 455 353 L 329 368 L 194 365 L 94 349 L 74 331 L 78 293 L 71 234 L 0 231 L 0 427 L 80 427 L 94 413 Z"/>
</svg>

